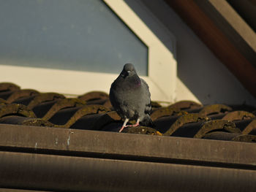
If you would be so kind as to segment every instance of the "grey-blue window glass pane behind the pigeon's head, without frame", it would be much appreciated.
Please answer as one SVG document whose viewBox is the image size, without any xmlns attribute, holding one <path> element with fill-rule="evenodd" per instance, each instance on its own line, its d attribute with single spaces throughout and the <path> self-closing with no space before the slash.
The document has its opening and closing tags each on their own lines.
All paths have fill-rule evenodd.
<svg viewBox="0 0 256 192">
<path fill-rule="evenodd" d="M 148 48 L 100 0 L 4 1 L 2 63 L 118 73 L 124 62 L 147 75 Z"/>
</svg>

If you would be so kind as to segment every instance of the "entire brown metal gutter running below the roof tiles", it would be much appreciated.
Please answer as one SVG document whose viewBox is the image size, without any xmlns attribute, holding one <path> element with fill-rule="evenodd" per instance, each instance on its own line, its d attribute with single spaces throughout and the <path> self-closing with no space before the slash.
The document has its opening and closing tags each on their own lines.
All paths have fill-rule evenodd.
<svg viewBox="0 0 256 192">
<path fill-rule="evenodd" d="M 0 188 L 255 191 L 254 143 L 0 124 Z"/>
</svg>

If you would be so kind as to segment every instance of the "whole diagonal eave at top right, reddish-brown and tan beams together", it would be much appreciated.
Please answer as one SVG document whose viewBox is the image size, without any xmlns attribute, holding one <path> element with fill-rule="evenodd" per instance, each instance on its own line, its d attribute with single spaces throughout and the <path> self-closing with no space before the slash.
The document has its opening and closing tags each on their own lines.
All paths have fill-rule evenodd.
<svg viewBox="0 0 256 192">
<path fill-rule="evenodd" d="M 236 11 L 226 1 L 165 1 L 256 97 L 256 34 Z"/>
</svg>

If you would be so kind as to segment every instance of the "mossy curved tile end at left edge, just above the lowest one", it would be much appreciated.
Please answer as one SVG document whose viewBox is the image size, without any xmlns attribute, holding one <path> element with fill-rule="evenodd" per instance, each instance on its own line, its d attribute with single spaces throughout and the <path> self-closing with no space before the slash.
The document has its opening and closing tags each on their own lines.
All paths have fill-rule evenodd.
<svg viewBox="0 0 256 192">
<path fill-rule="evenodd" d="M 7 115 L 21 115 L 29 118 L 36 118 L 34 112 L 23 104 L 5 104 L 0 106 L 0 118 Z"/>
</svg>

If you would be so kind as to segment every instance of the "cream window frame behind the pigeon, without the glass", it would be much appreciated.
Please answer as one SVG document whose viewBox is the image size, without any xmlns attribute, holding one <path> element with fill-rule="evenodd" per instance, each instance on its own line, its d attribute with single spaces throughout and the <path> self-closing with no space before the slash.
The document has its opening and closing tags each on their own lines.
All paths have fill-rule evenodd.
<svg viewBox="0 0 256 192">
<path fill-rule="evenodd" d="M 125 1 L 103 1 L 148 46 L 148 76 L 142 76 L 142 78 L 148 82 L 151 99 L 173 102 L 176 99 L 177 77 L 177 64 L 173 53 L 165 47 Z M 148 13 L 146 17 L 151 19 L 152 15 Z M 173 43 L 173 39 L 168 39 L 168 41 L 170 42 L 165 43 Z M 105 91 L 108 93 L 111 83 L 118 76 L 118 74 L 104 72 L 78 72 L 10 66 L 4 61 L 0 61 L 0 70 L 1 82 L 14 82 L 20 85 L 21 88 L 34 88 L 41 92 L 58 92 L 66 96 L 78 96 L 89 91 Z"/>
</svg>

